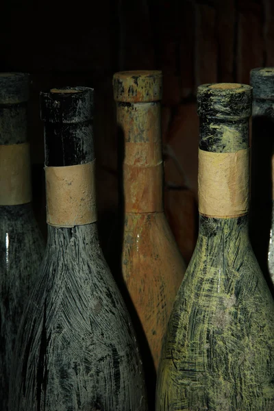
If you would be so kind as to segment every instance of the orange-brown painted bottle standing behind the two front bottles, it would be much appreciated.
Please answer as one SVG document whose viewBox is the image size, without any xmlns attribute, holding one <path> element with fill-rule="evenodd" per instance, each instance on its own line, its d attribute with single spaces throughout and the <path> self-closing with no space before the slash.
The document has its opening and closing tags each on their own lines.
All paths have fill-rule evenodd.
<svg viewBox="0 0 274 411">
<path fill-rule="evenodd" d="M 121 268 L 154 399 L 162 336 L 186 270 L 163 211 L 162 73 L 116 73 L 113 86 L 124 145 Z"/>
</svg>

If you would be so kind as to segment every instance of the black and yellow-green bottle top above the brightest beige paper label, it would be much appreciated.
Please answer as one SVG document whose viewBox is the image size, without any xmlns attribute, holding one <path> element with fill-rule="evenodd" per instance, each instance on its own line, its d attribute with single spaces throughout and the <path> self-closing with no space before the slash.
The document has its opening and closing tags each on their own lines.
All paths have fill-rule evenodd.
<svg viewBox="0 0 274 411">
<path fill-rule="evenodd" d="M 250 86 L 233 83 L 199 86 L 199 149 L 235 153 L 249 148 L 251 90 Z"/>
</svg>

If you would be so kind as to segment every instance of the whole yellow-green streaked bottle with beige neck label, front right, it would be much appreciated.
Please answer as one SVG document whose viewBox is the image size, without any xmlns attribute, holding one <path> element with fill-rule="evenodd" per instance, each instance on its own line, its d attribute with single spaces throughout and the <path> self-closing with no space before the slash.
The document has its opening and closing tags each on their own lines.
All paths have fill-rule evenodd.
<svg viewBox="0 0 274 411">
<path fill-rule="evenodd" d="M 248 234 L 251 91 L 198 88 L 199 237 L 164 338 L 157 411 L 274 409 L 274 302 Z"/>
</svg>

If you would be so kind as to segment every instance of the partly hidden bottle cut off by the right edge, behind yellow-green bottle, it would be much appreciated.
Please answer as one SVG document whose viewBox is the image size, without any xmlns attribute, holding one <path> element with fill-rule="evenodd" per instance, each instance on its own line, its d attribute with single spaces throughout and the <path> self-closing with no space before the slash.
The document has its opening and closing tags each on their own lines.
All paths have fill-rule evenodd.
<svg viewBox="0 0 274 411">
<path fill-rule="evenodd" d="M 274 284 L 274 68 L 251 70 L 250 82 L 253 87 L 250 235 L 262 272 Z"/>
</svg>

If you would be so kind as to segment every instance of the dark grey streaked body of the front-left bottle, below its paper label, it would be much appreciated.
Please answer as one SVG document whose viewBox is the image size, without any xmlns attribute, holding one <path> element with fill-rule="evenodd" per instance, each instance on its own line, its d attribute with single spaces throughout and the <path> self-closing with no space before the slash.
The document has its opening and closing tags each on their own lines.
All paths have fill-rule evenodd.
<svg viewBox="0 0 274 411">
<path fill-rule="evenodd" d="M 42 356 L 47 360 L 47 364 L 42 365 L 42 373 L 47 372 L 44 395 L 49 408 L 55 409 L 58 399 L 66 398 L 66 406 L 58 408 L 65 411 L 73 406 L 76 396 L 81 397 L 82 407 L 95 405 L 97 395 L 106 401 L 110 387 L 113 388 L 110 373 L 116 373 L 117 384 L 127 386 L 129 391 L 136 382 L 136 392 L 144 396 L 146 409 L 136 337 L 99 244 L 90 241 L 80 247 L 77 241 L 70 241 L 66 247 L 55 247 L 52 242 L 51 238 L 40 279 L 19 329 L 14 362 L 19 365 L 14 371 L 14 388 L 21 390 L 20 382 L 25 381 L 28 392 L 32 393 L 32 378 L 40 375 Z M 25 353 L 24 361 L 28 364 L 25 368 L 20 360 L 21 352 Z M 66 393 L 62 390 L 62 372 L 66 373 L 68 386 L 73 387 L 65 390 Z M 79 378 L 81 381 L 77 384 Z M 119 388 L 117 392 L 122 391 Z M 21 391 L 18 398 L 23 397 Z M 129 397 L 134 403 L 132 392 Z M 34 409 L 30 397 L 24 401 L 23 409 L 27 410 L 27 406 Z M 105 402 L 100 406 L 118 411 L 123 409 L 122 402 L 121 397 L 114 395 L 113 408 L 108 408 Z"/>
</svg>

